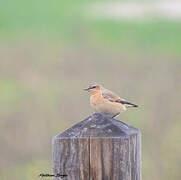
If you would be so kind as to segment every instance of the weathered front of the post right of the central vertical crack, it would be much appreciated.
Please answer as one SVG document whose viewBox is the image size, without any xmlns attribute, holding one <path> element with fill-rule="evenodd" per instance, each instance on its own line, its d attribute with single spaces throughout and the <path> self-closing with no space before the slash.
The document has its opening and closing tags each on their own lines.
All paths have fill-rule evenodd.
<svg viewBox="0 0 181 180">
<path fill-rule="evenodd" d="M 91 180 L 140 180 L 137 135 L 129 139 L 90 138 Z"/>
</svg>

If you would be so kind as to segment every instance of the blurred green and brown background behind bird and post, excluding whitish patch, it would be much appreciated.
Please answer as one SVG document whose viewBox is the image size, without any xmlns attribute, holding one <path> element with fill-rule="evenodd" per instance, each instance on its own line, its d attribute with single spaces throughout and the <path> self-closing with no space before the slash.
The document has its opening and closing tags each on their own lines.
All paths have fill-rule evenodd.
<svg viewBox="0 0 181 180">
<path fill-rule="evenodd" d="M 52 173 L 51 139 L 92 113 L 90 82 L 140 105 L 117 119 L 142 132 L 143 179 L 181 179 L 181 21 L 95 18 L 94 3 L 1 1 L 1 180 Z"/>
</svg>

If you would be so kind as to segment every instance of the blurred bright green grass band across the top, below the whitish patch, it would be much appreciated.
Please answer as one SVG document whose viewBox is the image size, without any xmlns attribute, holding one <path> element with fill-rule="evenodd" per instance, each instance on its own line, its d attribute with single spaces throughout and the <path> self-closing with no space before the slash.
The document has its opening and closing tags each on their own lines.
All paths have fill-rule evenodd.
<svg viewBox="0 0 181 180">
<path fill-rule="evenodd" d="M 152 50 L 180 56 L 180 21 L 93 20 L 85 14 L 88 5 L 89 1 L 3 1 L 0 37 L 19 39 L 24 35 L 65 44 L 83 41 L 99 48 Z"/>
</svg>

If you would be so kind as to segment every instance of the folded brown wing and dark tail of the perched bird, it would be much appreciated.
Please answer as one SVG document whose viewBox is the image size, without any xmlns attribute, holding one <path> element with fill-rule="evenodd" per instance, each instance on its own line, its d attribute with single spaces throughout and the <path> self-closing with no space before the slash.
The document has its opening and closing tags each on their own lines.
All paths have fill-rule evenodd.
<svg viewBox="0 0 181 180">
<path fill-rule="evenodd" d="M 101 91 L 102 91 L 102 97 L 108 99 L 111 102 L 121 103 L 124 104 L 125 106 L 138 107 L 136 104 L 132 104 L 126 101 L 125 99 L 120 98 L 117 94 L 111 92 L 108 89 L 102 88 Z"/>
</svg>

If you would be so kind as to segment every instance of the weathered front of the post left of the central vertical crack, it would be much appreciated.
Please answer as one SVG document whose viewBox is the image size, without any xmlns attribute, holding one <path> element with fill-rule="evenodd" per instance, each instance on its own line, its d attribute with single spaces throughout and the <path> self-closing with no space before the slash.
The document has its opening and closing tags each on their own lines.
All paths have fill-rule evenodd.
<svg viewBox="0 0 181 180">
<path fill-rule="evenodd" d="M 53 173 L 68 175 L 66 180 L 85 180 L 89 177 L 89 138 L 53 140 Z M 60 177 L 56 177 L 56 180 Z"/>
</svg>

